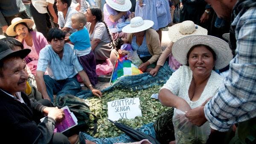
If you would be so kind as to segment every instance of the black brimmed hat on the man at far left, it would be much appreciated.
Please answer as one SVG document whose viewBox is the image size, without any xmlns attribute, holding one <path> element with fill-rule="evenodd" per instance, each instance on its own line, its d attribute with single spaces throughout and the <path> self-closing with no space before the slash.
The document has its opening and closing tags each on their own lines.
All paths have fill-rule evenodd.
<svg viewBox="0 0 256 144">
<path fill-rule="evenodd" d="M 0 60 L 3 58 L 8 57 L 20 57 L 20 58 L 25 58 L 29 52 L 30 49 L 21 49 L 19 51 L 13 51 L 6 43 L 0 41 Z"/>
</svg>

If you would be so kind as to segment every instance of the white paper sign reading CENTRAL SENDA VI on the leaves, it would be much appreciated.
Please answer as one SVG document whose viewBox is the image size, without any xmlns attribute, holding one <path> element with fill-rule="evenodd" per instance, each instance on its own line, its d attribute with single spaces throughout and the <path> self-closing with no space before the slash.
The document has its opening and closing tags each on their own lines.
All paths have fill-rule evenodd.
<svg viewBox="0 0 256 144">
<path fill-rule="evenodd" d="M 120 118 L 132 119 L 142 116 L 139 98 L 124 98 L 108 102 L 108 119 L 117 121 Z"/>
</svg>

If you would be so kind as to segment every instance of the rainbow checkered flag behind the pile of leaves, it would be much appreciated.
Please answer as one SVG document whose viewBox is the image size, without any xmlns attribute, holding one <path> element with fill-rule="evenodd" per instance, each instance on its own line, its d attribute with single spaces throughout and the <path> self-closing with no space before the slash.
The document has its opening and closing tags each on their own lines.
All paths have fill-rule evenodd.
<svg viewBox="0 0 256 144">
<path fill-rule="evenodd" d="M 118 78 L 127 75 L 139 75 L 143 72 L 138 69 L 130 60 L 124 60 L 118 56 L 116 60 L 115 69 L 112 75 L 112 83 L 114 83 Z"/>
</svg>

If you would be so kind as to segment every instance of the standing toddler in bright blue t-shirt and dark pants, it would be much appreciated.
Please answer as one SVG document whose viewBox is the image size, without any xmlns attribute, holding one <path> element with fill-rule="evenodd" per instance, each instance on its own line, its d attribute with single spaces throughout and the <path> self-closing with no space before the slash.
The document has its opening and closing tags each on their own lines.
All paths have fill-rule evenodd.
<svg viewBox="0 0 256 144">
<path fill-rule="evenodd" d="M 74 44 L 74 51 L 78 56 L 78 60 L 87 73 L 90 83 L 95 86 L 98 83 L 96 59 L 91 51 L 89 32 L 84 27 L 86 24 L 84 14 L 81 12 L 74 14 L 71 17 L 71 21 L 72 28 L 77 29 L 77 32 L 73 32 L 69 37 L 65 37 L 65 41 L 71 41 Z"/>
</svg>

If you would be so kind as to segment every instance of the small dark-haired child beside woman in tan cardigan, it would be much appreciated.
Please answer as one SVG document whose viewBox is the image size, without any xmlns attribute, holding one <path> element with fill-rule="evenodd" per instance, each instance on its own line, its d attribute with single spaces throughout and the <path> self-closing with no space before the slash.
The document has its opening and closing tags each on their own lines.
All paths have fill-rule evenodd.
<svg viewBox="0 0 256 144">
<path fill-rule="evenodd" d="M 119 37 L 116 40 L 116 49 L 118 49 L 118 53 L 122 55 L 124 60 L 127 60 L 128 53 L 133 51 L 131 44 L 128 43 L 128 40 L 124 37 Z"/>
</svg>

